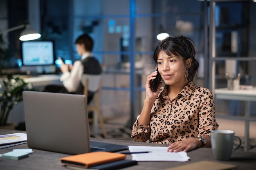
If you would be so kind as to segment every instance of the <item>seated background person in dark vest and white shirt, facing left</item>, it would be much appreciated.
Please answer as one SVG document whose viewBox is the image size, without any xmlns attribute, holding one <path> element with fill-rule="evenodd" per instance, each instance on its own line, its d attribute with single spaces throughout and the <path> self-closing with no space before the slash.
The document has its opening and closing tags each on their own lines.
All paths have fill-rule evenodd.
<svg viewBox="0 0 256 170">
<path fill-rule="evenodd" d="M 75 43 L 76 51 L 81 55 L 81 60 L 74 62 L 74 65 L 61 64 L 60 69 L 63 75 L 60 80 L 63 82 L 63 86 L 49 85 L 46 86 L 45 92 L 83 94 L 82 75 L 100 75 L 102 73 L 101 65 L 92 54 L 94 45 L 92 38 L 87 34 L 83 34 L 76 39 Z M 88 104 L 93 95 L 93 92 L 88 91 Z"/>
</svg>

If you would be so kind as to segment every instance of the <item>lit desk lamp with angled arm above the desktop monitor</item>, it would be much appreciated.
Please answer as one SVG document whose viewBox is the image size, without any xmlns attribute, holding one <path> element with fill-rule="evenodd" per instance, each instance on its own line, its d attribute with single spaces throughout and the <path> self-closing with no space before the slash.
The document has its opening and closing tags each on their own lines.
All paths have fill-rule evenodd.
<svg viewBox="0 0 256 170">
<path fill-rule="evenodd" d="M 26 28 L 20 33 L 20 41 L 36 40 L 36 39 L 41 37 L 41 35 L 36 30 L 30 28 L 29 23 L 22 24 L 22 25 L 19 25 L 19 26 L 15 26 L 13 28 L 2 31 L 2 32 L 0 32 L 0 35 L 3 34 L 3 33 L 9 33 L 11 31 L 21 29 L 23 27 L 26 27 Z"/>
</svg>

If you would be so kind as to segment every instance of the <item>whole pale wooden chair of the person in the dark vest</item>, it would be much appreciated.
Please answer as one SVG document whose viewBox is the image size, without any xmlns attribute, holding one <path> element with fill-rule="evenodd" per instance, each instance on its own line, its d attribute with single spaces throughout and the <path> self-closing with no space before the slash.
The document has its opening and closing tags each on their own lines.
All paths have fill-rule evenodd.
<svg viewBox="0 0 256 170">
<path fill-rule="evenodd" d="M 101 75 L 82 75 L 82 83 L 84 86 L 83 94 L 87 97 L 88 90 L 95 92 L 92 102 L 88 104 L 87 111 L 93 112 L 93 131 L 97 132 L 98 121 L 101 126 L 101 130 L 103 132 L 104 138 L 108 138 L 106 128 L 104 126 L 103 117 L 100 110 L 100 94 L 101 94 L 101 86 L 102 86 L 102 76 Z"/>
</svg>

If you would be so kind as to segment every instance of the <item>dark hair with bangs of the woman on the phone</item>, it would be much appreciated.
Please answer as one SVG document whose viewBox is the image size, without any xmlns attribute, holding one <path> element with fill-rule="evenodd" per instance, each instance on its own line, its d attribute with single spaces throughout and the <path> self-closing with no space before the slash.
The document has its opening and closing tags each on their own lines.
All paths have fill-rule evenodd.
<svg viewBox="0 0 256 170">
<path fill-rule="evenodd" d="M 184 64 L 186 60 L 191 58 L 191 67 L 189 70 L 189 76 L 187 77 L 188 81 L 193 81 L 194 77 L 198 73 L 199 63 L 195 59 L 195 48 L 193 46 L 194 42 L 191 38 L 186 36 L 178 36 L 178 37 L 167 37 L 163 41 L 159 42 L 157 47 L 155 48 L 155 52 L 153 55 L 153 59 L 155 63 L 157 63 L 158 54 L 161 51 L 164 51 L 166 55 L 171 56 L 172 54 L 176 56 L 180 56 L 183 58 Z"/>
</svg>

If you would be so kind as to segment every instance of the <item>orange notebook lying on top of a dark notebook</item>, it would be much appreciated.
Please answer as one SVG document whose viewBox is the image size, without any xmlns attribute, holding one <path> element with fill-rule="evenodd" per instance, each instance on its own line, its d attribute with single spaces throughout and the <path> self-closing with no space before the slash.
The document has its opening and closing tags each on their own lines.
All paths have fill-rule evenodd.
<svg viewBox="0 0 256 170">
<path fill-rule="evenodd" d="M 84 166 L 85 168 L 103 163 L 126 159 L 126 155 L 113 152 L 90 152 L 61 158 L 65 165 Z"/>
</svg>

